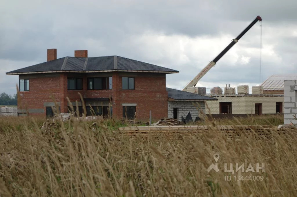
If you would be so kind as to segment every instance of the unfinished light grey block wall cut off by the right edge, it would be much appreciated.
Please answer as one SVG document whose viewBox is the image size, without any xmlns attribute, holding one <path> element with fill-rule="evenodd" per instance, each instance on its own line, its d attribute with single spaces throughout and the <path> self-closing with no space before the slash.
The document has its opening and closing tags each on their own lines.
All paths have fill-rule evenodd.
<svg viewBox="0 0 297 197">
<path fill-rule="evenodd" d="M 297 80 L 285 80 L 284 88 L 284 124 L 297 124 L 297 120 L 293 117 L 297 115 Z"/>
</svg>

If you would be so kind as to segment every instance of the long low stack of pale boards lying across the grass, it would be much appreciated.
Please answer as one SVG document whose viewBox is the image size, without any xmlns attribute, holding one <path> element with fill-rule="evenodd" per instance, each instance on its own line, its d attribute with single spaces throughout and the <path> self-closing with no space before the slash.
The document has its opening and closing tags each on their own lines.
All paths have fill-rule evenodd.
<svg viewBox="0 0 297 197">
<path fill-rule="evenodd" d="M 250 133 L 256 135 L 268 135 L 272 130 L 275 131 L 283 131 L 281 129 L 277 129 L 271 127 L 269 125 L 263 126 L 230 126 L 230 125 L 222 125 L 222 126 L 206 126 L 206 125 L 195 125 L 195 126 L 184 126 L 184 125 L 174 125 L 174 126 L 146 126 L 146 127 L 119 127 L 119 133 L 126 135 L 140 135 L 143 137 L 149 135 L 174 135 L 174 134 L 203 134 L 203 132 L 211 132 L 211 131 L 221 131 L 224 134 L 229 136 L 232 135 L 240 135 L 240 133 Z"/>
</svg>

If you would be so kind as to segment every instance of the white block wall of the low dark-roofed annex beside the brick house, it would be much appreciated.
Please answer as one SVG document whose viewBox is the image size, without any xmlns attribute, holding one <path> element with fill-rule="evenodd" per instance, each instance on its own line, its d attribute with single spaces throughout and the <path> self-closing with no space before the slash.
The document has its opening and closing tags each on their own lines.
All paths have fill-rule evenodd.
<svg viewBox="0 0 297 197">
<path fill-rule="evenodd" d="M 178 121 L 181 121 L 181 117 L 186 118 L 189 112 L 191 112 L 193 120 L 196 116 L 204 118 L 200 114 L 200 110 L 205 114 L 204 101 L 168 101 L 168 118 L 173 118 L 173 108 L 178 108 Z"/>
</svg>

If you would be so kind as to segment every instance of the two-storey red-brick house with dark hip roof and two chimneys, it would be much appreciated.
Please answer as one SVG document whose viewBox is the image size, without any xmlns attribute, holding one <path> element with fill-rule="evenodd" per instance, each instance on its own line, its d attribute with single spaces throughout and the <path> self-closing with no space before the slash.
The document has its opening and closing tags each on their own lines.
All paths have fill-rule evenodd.
<svg viewBox="0 0 297 197">
<path fill-rule="evenodd" d="M 66 97 L 82 113 L 80 93 L 88 115 L 91 106 L 96 114 L 115 119 L 136 114 L 138 120 L 148 120 L 150 110 L 154 119 L 168 117 L 166 74 L 177 70 L 120 56 L 88 57 L 87 50 L 57 59 L 56 49 L 48 49 L 47 60 L 6 73 L 19 75 L 18 114 L 52 115 L 51 95 L 61 113 L 68 112 Z"/>
</svg>

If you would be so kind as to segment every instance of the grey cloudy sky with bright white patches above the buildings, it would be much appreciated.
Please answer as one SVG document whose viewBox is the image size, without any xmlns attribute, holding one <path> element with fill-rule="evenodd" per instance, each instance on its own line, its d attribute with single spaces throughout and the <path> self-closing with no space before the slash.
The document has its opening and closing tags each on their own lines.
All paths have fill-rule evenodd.
<svg viewBox="0 0 297 197">
<path fill-rule="evenodd" d="M 0 93 L 16 93 L 18 76 L 5 72 L 87 49 L 179 70 L 169 88 L 183 88 L 257 15 L 263 18 L 263 80 L 297 73 L 297 1 L 1 1 Z M 260 83 L 257 22 L 196 85 Z M 148 84 L 149 85 L 149 84 Z"/>
</svg>

